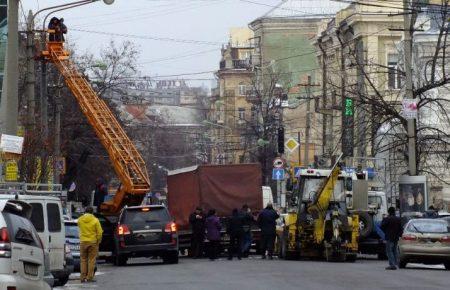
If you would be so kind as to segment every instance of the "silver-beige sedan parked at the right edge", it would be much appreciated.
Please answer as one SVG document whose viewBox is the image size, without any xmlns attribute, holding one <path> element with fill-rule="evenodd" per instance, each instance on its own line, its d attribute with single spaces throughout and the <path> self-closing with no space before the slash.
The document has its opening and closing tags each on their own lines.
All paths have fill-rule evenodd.
<svg viewBox="0 0 450 290">
<path fill-rule="evenodd" d="M 408 263 L 444 264 L 450 270 L 450 225 L 442 219 L 412 219 L 399 242 L 400 268 Z"/>
</svg>

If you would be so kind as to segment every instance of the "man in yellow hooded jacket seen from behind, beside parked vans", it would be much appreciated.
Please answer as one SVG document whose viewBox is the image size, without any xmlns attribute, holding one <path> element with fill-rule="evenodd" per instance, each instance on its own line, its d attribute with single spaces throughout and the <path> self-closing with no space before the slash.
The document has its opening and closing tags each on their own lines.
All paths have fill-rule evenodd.
<svg viewBox="0 0 450 290">
<path fill-rule="evenodd" d="M 102 226 L 93 215 L 92 207 L 86 208 L 86 212 L 78 219 L 80 228 L 80 280 L 95 282 L 95 263 L 98 254 L 98 246 L 102 241 Z"/>
</svg>

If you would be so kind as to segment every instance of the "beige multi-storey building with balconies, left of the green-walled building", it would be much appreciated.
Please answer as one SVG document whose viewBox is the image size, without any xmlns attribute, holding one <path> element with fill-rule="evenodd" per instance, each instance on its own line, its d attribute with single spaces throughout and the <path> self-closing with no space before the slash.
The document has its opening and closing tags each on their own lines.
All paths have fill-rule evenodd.
<svg viewBox="0 0 450 290">
<path fill-rule="evenodd" d="M 229 43 L 222 48 L 216 73 L 218 88 L 211 96 L 210 121 L 212 161 L 229 164 L 248 162 L 254 140 L 248 132 L 252 105 L 247 95 L 253 88 L 251 66 L 253 33 L 248 28 L 232 28 Z"/>
</svg>

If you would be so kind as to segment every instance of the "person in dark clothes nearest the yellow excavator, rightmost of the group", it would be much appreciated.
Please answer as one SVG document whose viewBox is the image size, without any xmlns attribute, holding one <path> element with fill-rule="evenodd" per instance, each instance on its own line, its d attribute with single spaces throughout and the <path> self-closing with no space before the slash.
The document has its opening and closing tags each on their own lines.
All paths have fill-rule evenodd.
<svg viewBox="0 0 450 290">
<path fill-rule="evenodd" d="M 269 259 L 273 259 L 273 248 L 276 235 L 276 220 L 280 215 L 273 209 L 272 203 L 268 203 L 266 208 L 258 215 L 258 226 L 261 228 L 261 251 L 262 258 L 266 258 L 266 251 Z"/>
</svg>

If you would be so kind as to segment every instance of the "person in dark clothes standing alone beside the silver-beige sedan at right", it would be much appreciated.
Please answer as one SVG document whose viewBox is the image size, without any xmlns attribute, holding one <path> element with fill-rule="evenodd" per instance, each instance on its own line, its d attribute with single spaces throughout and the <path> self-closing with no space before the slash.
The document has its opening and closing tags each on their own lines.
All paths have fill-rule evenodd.
<svg viewBox="0 0 450 290">
<path fill-rule="evenodd" d="M 386 255 L 389 260 L 389 267 L 386 270 L 397 270 L 398 266 L 398 240 L 402 236 L 403 229 L 401 220 L 395 215 L 395 208 L 388 209 L 388 216 L 381 222 L 381 230 L 386 239 Z"/>
</svg>

